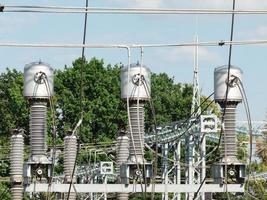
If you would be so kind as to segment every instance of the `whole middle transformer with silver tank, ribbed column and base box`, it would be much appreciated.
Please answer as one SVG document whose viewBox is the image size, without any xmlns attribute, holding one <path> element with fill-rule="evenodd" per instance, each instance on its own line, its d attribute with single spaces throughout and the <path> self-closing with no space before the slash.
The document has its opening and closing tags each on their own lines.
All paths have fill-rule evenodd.
<svg viewBox="0 0 267 200">
<path fill-rule="evenodd" d="M 150 70 L 140 64 L 122 68 L 121 98 L 127 101 L 129 157 L 120 166 L 121 183 L 133 181 L 147 183 L 152 177 L 152 164 L 144 158 L 145 111 L 144 105 L 150 100 Z M 119 152 L 125 154 L 126 152 Z M 126 154 L 125 154 L 126 155 Z"/>
</svg>

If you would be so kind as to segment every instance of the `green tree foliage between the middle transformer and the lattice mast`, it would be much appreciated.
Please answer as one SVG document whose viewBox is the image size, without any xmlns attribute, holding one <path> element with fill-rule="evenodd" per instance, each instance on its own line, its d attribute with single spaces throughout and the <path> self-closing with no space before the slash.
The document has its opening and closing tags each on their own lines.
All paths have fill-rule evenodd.
<svg viewBox="0 0 267 200">
<path fill-rule="evenodd" d="M 152 74 L 151 96 L 157 124 L 185 119 L 190 114 L 192 85 L 174 83 L 166 73 Z M 146 106 L 146 127 L 153 124 L 152 112 Z"/>
</svg>

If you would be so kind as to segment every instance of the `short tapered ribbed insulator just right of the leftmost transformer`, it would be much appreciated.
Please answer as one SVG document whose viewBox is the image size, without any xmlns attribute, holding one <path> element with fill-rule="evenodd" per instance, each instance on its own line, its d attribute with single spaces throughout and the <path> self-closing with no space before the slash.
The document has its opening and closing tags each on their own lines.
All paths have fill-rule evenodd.
<svg viewBox="0 0 267 200">
<path fill-rule="evenodd" d="M 68 135 L 64 138 L 64 174 L 65 183 L 71 183 L 72 173 L 75 166 L 77 154 L 77 137 L 75 135 Z M 73 175 L 72 183 L 76 182 L 76 177 Z M 67 199 L 67 194 L 65 194 L 65 199 Z M 69 200 L 76 199 L 76 193 L 71 192 Z"/>
</svg>

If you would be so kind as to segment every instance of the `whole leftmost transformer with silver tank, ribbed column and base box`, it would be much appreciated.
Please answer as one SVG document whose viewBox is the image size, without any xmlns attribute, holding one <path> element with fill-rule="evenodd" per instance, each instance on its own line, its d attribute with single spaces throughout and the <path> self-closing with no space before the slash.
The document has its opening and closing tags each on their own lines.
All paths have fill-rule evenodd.
<svg viewBox="0 0 267 200">
<path fill-rule="evenodd" d="M 48 183 L 52 160 L 46 154 L 47 108 L 54 94 L 53 69 L 42 62 L 26 65 L 23 94 L 30 105 L 30 156 L 24 166 L 24 183 Z"/>
</svg>

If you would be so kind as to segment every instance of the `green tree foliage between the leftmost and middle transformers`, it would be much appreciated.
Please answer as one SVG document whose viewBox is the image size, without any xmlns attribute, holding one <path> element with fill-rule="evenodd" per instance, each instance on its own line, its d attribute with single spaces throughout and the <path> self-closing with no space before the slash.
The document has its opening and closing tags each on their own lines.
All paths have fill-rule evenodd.
<svg viewBox="0 0 267 200">
<path fill-rule="evenodd" d="M 75 127 L 81 117 L 80 71 L 83 62 L 84 113 L 79 133 L 81 142 L 114 139 L 119 126 L 125 126 L 126 119 L 124 105 L 120 100 L 120 68 L 104 67 L 103 61 L 95 58 L 90 62 L 78 59 L 73 67 L 56 71 L 57 108 L 62 110 L 62 119 L 58 117 L 58 133 L 63 136 L 67 129 Z"/>
</svg>

